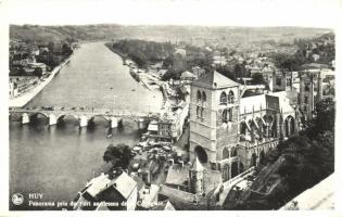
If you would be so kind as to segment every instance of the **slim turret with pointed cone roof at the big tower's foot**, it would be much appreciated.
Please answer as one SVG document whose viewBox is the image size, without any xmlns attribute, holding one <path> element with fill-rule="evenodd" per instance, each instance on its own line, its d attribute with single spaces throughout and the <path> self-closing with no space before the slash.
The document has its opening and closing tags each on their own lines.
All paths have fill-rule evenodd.
<svg viewBox="0 0 342 217">
<path fill-rule="evenodd" d="M 202 194 L 204 192 L 204 167 L 202 166 L 201 162 L 198 157 L 193 161 L 193 165 L 189 170 L 189 178 L 190 178 L 190 192 Z"/>
</svg>

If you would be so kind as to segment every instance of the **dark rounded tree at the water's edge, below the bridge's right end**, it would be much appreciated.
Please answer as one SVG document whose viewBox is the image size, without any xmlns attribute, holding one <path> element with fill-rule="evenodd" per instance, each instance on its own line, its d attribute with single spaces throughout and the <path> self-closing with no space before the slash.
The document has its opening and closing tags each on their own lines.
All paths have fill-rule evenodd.
<svg viewBox="0 0 342 217">
<path fill-rule="evenodd" d="M 124 143 L 110 144 L 103 154 L 103 161 L 111 162 L 113 167 L 127 168 L 130 158 L 130 148 Z"/>
</svg>

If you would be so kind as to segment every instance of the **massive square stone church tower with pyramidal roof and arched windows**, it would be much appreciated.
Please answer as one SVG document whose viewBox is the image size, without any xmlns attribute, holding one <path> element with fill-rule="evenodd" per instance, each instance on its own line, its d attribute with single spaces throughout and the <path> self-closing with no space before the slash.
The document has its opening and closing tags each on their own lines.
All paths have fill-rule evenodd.
<svg viewBox="0 0 342 217">
<path fill-rule="evenodd" d="M 239 141 L 239 84 L 211 72 L 191 84 L 190 159 L 216 169 L 237 155 Z M 232 149 L 233 148 L 233 149 Z"/>
</svg>

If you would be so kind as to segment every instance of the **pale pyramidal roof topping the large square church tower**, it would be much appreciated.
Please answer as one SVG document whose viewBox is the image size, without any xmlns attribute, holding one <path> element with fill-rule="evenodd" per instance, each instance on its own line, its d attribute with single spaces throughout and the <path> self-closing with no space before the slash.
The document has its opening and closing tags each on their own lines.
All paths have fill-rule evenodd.
<svg viewBox="0 0 342 217">
<path fill-rule="evenodd" d="M 220 89 L 240 86 L 240 84 L 227 78 L 226 76 L 217 73 L 216 71 L 203 75 L 198 80 L 193 81 L 192 85 L 210 89 Z"/>
</svg>

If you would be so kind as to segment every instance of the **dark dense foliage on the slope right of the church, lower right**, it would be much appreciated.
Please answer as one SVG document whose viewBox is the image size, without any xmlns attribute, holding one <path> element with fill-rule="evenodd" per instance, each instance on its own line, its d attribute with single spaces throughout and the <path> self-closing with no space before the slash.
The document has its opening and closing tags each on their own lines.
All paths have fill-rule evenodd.
<svg viewBox="0 0 342 217">
<path fill-rule="evenodd" d="M 308 129 L 281 142 L 266 155 L 268 166 L 279 164 L 271 176 L 280 176 L 280 184 L 266 197 L 249 199 L 236 208 L 278 209 L 333 173 L 334 102 L 322 100 L 316 104 L 316 111 L 317 117 Z"/>
</svg>

